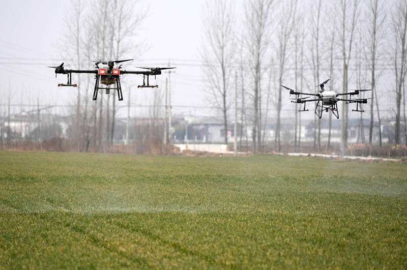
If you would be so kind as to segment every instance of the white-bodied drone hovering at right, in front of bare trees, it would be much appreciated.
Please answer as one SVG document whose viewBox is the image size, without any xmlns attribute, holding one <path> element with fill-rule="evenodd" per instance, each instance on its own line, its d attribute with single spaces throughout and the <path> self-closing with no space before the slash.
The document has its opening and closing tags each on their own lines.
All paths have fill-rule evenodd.
<svg viewBox="0 0 407 270">
<path fill-rule="evenodd" d="M 305 105 L 307 102 L 310 101 L 316 101 L 316 106 L 315 106 L 315 114 L 321 119 L 322 118 L 322 114 L 323 112 L 328 112 L 329 110 L 332 111 L 333 115 L 335 115 L 335 117 L 337 119 L 339 119 L 339 112 L 338 112 L 338 105 L 337 102 L 338 101 L 344 101 L 346 102 L 346 104 L 349 103 L 356 103 L 356 110 L 353 109 L 352 111 L 356 111 L 356 112 L 365 112 L 362 109 L 359 109 L 359 104 L 366 104 L 368 99 L 371 98 L 367 98 L 367 99 L 359 99 L 359 98 L 352 98 L 352 96 L 356 95 L 359 96 L 360 92 L 365 92 L 365 91 L 373 91 L 373 89 L 348 89 L 351 90 L 353 92 L 349 92 L 349 93 L 342 93 L 342 94 L 336 94 L 335 91 L 325 91 L 324 86 L 325 84 L 329 81 L 330 79 L 324 81 L 321 84 L 316 85 L 315 87 L 320 87 L 321 89 L 319 89 L 319 93 L 316 94 L 312 94 L 312 93 L 301 93 L 301 92 L 297 92 L 292 88 L 289 88 L 287 86 L 281 85 L 282 87 L 284 87 L 285 89 L 289 90 L 289 95 L 297 95 L 297 97 L 295 99 L 292 99 L 291 102 L 293 103 L 300 103 L 300 104 L 304 104 L 304 108 L 301 110 L 298 110 L 299 112 L 301 111 L 309 111 L 308 109 L 305 109 Z M 308 96 L 315 96 L 317 98 L 315 99 L 308 99 L 310 97 L 303 97 L 301 98 L 300 95 L 308 95 Z M 339 96 L 346 96 L 349 95 L 350 98 L 346 99 L 346 98 L 338 98 Z M 321 108 L 321 111 L 318 112 L 318 108 Z"/>
</svg>

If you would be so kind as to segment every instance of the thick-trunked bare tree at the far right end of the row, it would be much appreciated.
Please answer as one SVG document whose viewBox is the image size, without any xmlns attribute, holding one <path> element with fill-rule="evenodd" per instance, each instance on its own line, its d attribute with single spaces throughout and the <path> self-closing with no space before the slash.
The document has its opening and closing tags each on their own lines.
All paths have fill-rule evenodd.
<svg viewBox="0 0 407 270">
<path fill-rule="evenodd" d="M 407 73 L 407 3 L 399 1 L 392 16 L 392 32 L 394 35 L 394 72 L 396 77 L 396 125 L 395 144 L 400 144 L 400 109 L 403 83 Z"/>
</svg>

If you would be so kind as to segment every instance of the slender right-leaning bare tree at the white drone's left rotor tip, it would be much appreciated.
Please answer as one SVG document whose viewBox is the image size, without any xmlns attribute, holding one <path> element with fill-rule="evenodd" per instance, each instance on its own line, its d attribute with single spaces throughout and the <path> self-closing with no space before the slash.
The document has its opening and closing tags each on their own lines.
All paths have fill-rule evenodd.
<svg viewBox="0 0 407 270">
<path fill-rule="evenodd" d="M 279 62 L 279 71 L 278 71 L 278 83 L 282 84 L 283 76 L 285 73 L 285 64 L 287 58 L 287 47 L 290 39 L 290 35 L 293 31 L 296 12 L 297 12 L 297 0 L 290 0 L 286 2 L 282 8 L 282 14 L 284 16 L 280 17 L 279 30 L 278 30 L 278 46 L 277 46 L 277 59 Z M 281 114 L 281 87 L 278 87 L 278 100 L 277 100 L 277 124 L 275 128 L 274 135 L 274 149 L 281 151 L 281 142 L 280 142 L 280 114 Z M 277 148 L 278 146 L 278 148 Z"/>
</svg>

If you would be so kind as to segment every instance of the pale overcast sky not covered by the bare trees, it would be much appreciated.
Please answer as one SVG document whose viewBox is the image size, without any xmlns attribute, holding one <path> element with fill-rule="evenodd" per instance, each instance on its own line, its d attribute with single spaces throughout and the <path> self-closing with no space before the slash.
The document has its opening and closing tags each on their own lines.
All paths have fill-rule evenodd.
<svg viewBox="0 0 407 270">
<path fill-rule="evenodd" d="M 53 70 L 45 67 L 59 65 L 62 62 L 69 64 L 61 58 L 56 48 L 57 42 L 64 36 L 66 27 L 64 19 L 67 19 L 66 11 L 69 3 L 69 1 L 54 0 L 15 0 L 2 3 L 0 103 L 7 103 L 10 89 L 12 104 L 33 104 L 36 103 L 37 98 L 40 99 L 41 104 L 75 102 L 76 88 L 57 87 L 58 83 L 66 82 L 66 76 L 58 75 L 55 79 Z M 171 76 L 172 105 L 210 106 L 211 104 L 206 100 L 204 77 L 199 67 L 199 48 L 202 44 L 201 11 L 205 1 L 142 0 L 140 3 L 148 8 L 148 13 L 142 24 L 143 29 L 138 34 L 140 39 L 146 41 L 149 49 L 140 56 L 138 61 L 125 63 L 124 68 L 130 70 L 137 65 L 166 66 L 168 60 L 171 60 L 171 66 L 177 66 L 176 73 Z M 238 8 L 242 6 L 241 0 L 236 3 Z M 161 91 L 164 91 L 165 77 L 166 75 L 157 77 Z M 132 104 L 152 104 L 147 93 L 153 90 L 136 88 L 136 85 L 141 84 L 141 77 L 123 76 L 122 82 L 125 100 L 120 105 L 127 104 L 129 87 L 132 90 Z M 75 83 L 74 79 L 73 83 Z M 287 85 L 292 86 L 289 82 Z M 92 92 L 93 86 L 88 97 L 90 102 L 93 102 Z M 101 93 L 98 99 L 100 96 Z M 103 96 L 106 95 L 103 94 Z M 288 99 L 288 95 L 283 97 L 284 100 L 285 98 Z M 290 105 L 293 104 L 287 101 L 284 108 Z M 313 117 L 312 107 L 313 105 L 309 106 L 310 112 L 307 113 L 311 117 Z M 2 110 L 4 111 L 4 108 L 0 108 L 0 111 Z M 12 110 L 18 112 L 20 108 Z M 180 112 L 211 114 L 210 111 L 199 108 L 173 107 L 173 113 Z M 123 115 L 125 111 L 121 110 L 119 113 Z M 365 117 L 368 116 L 365 115 Z"/>
</svg>

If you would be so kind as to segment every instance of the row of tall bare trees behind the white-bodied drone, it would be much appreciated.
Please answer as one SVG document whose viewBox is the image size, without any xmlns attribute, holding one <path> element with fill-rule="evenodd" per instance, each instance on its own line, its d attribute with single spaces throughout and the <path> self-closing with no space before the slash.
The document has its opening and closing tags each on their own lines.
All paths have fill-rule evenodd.
<svg viewBox="0 0 407 270">
<path fill-rule="evenodd" d="M 361 140 L 373 143 L 373 123 L 379 122 L 382 145 L 380 102 L 394 101 L 395 144 L 407 141 L 405 76 L 407 73 L 407 2 L 401 0 L 248 0 L 238 7 L 229 0 L 209 0 L 203 15 L 205 31 L 202 60 L 208 98 L 227 130 L 231 115 L 235 73 L 239 74 L 240 145 L 243 129 L 252 127 L 252 151 L 264 151 L 266 126 L 274 124 L 274 149 L 281 150 L 281 109 L 287 96 L 280 84 L 299 92 L 317 93 L 318 85 L 330 78 L 329 89 L 338 93 L 351 88 L 372 88 L 366 109 L 370 124 L 364 134 L 360 114 Z M 237 15 L 236 11 L 243 10 Z M 328 77 L 329 76 L 329 77 Z M 376 89 L 379 81 L 386 87 Z M 383 83 L 382 83 L 383 85 Z M 337 91 L 340 89 L 340 91 Z M 379 93 L 377 93 L 379 92 Z M 378 96 L 379 95 L 379 96 Z M 262 107 L 263 106 L 263 107 Z M 270 122 L 269 106 L 277 109 Z M 250 107 L 251 110 L 247 110 Z M 347 141 L 348 108 L 341 109 L 341 148 Z M 220 112 L 220 113 L 219 113 Z M 301 145 L 301 113 L 295 114 L 294 145 Z M 328 147 L 331 144 L 329 115 Z M 403 124 L 403 125 L 402 125 Z M 401 130 L 401 127 L 404 130 Z M 321 149 L 321 119 L 314 115 L 314 147 Z M 247 141 L 247 137 L 246 137 Z M 227 136 L 224 136 L 227 143 Z"/>
</svg>

